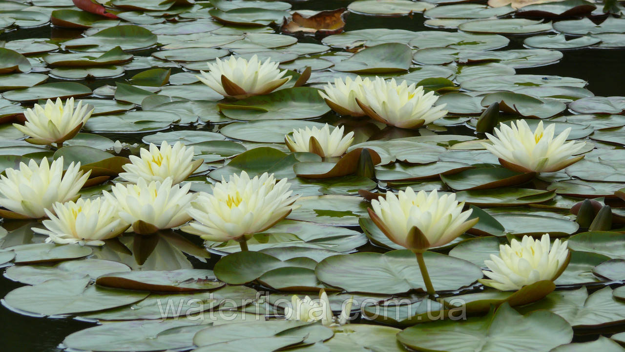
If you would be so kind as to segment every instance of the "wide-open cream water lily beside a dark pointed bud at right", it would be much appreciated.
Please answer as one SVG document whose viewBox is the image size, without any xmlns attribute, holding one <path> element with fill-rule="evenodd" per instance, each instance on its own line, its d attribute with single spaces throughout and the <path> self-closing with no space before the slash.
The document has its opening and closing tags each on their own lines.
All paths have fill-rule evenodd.
<svg viewBox="0 0 625 352">
<path fill-rule="evenodd" d="M 555 124 L 543 128 L 541 121 L 532 132 L 525 120 L 517 120 L 509 127 L 502 124 L 500 129 L 495 128 L 497 137 L 486 133 L 492 145 L 489 143 L 482 143 L 482 145 L 499 158 L 499 163 L 503 167 L 510 170 L 554 172 L 584 158 L 583 155 L 572 157 L 584 147 L 584 143 L 566 142 L 571 128 L 567 128 L 554 138 L 555 128 Z"/>
</svg>

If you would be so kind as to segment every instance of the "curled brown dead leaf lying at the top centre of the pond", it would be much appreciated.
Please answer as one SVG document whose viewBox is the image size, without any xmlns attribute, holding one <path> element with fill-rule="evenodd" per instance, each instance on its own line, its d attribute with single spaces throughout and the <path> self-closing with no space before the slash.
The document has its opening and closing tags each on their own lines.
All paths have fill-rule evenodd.
<svg viewBox="0 0 625 352">
<path fill-rule="evenodd" d="M 344 14 L 347 9 L 321 11 L 306 17 L 300 13 L 293 13 L 290 20 L 282 23 L 282 33 L 303 33 L 316 36 L 329 36 L 337 34 L 345 28 Z"/>
</svg>

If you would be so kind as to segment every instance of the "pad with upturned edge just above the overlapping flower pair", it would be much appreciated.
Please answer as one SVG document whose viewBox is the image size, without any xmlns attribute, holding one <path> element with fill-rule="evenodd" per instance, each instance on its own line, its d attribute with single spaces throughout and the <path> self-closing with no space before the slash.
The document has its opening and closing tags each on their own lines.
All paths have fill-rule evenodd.
<svg viewBox="0 0 625 352">
<path fill-rule="evenodd" d="M 334 65 L 334 70 L 354 73 L 405 72 L 412 61 L 411 49 L 401 43 L 369 46 Z"/>
</svg>

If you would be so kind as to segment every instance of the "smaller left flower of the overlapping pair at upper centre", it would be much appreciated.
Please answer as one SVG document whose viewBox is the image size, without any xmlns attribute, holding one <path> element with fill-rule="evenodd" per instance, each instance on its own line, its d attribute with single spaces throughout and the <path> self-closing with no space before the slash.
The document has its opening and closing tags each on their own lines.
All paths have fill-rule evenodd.
<svg viewBox="0 0 625 352">
<path fill-rule="evenodd" d="M 328 82 L 323 87 L 323 91 L 319 91 L 324 100 L 326 100 L 327 106 L 340 115 L 351 116 L 364 116 L 366 113 L 362 111 L 356 98 L 363 101 L 364 91 L 371 90 L 373 83 L 369 78 L 362 79 L 361 76 L 357 76 L 352 80 L 350 77 L 346 77 L 345 81 L 342 78 L 334 78 L 334 85 Z"/>
</svg>

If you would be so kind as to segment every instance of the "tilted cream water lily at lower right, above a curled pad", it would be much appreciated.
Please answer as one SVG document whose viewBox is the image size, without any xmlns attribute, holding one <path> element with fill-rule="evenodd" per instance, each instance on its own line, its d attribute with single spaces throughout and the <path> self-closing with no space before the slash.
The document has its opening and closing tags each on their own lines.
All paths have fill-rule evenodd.
<svg viewBox="0 0 625 352">
<path fill-rule="evenodd" d="M 499 246 L 498 257 L 491 254 L 491 260 L 484 261 L 491 271 L 483 272 L 490 279 L 479 282 L 501 291 L 516 291 L 537 281 L 554 281 L 569 264 L 567 244 L 556 239 L 550 246 L 549 234 L 536 240 L 530 236 L 523 236 L 521 242 L 512 239 Z"/>
</svg>

